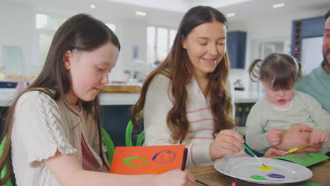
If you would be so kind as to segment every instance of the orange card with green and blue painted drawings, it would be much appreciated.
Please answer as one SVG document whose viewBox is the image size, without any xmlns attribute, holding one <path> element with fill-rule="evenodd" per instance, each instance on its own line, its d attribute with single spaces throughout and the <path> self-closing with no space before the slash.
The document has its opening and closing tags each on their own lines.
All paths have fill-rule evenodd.
<svg viewBox="0 0 330 186">
<path fill-rule="evenodd" d="M 184 170 L 186 158 L 185 145 L 116 147 L 110 173 L 140 175 Z"/>
</svg>

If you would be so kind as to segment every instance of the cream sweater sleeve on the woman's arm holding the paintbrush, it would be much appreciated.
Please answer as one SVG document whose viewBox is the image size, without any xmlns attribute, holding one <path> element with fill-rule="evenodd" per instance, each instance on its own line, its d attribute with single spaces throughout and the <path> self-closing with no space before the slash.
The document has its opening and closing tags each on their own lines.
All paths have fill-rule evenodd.
<svg viewBox="0 0 330 186">
<path fill-rule="evenodd" d="M 164 75 L 158 75 L 149 85 L 144 114 L 145 144 L 144 145 L 172 145 L 171 131 L 166 118 L 167 113 L 173 107 L 171 102 L 170 81 Z M 169 89 L 170 87 L 170 89 Z M 169 90 L 169 91 L 168 91 Z M 188 156 L 186 167 L 211 162 L 209 158 L 209 144 L 186 144 Z"/>
</svg>

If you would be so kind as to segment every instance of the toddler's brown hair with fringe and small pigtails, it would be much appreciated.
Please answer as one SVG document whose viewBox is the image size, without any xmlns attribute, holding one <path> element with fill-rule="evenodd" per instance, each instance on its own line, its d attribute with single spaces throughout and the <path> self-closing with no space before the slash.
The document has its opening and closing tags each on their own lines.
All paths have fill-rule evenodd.
<svg viewBox="0 0 330 186">
<path fill-rule="evenodd" d="M 249 68 L 253 82 L 262 80 L 275 90 L 291 89 L 302 74 L 302 65 L 288 54 L 269 54 L 264 61 L 256 59 Z"/>
</svg>

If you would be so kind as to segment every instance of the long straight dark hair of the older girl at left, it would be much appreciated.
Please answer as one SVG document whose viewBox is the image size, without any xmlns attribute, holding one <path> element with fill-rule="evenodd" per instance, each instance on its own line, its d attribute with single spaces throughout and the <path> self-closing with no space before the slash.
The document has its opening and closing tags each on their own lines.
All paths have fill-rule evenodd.
<svg viewBox="0 0 330 186">
<path fill-rule="evenodd" d="M 68 72 L 63 67 L 63 54 L 72 49 L 78 49 L 78 51 L 92 51 L 106 42 L 111 42 L 118 47 L 119 50 L 121 48 L 118 38 L 109 27 L 86 14 L 78 14 L 69 18 L 63 23 L 63 25 L 61 25 L 61 27 L 59 27 L 59 30 L 56 31 L 41 73 L 32 85 L 16 97 L 6 116 L 4 135 L 6 135 L 7 140 L 4 154 L 2 154 L 0 159 L 0 170 L 2 171 L 4 165 L 7 163 L 8 172 L 4 178 L 0 180 L 0 185 L 4 185 L 7 182 L 11 177 L 13 170 L 13 167 L 11 166 L 11 130 L 13 128 L 15 106 L 20 96 L 25 92 L 39 90 L 48 94 L 55 101 L 63 100 L 65 106 L 75 113 L 65 99 L 65 94 L 69 92 L 71 85 L 68 78 Z M 87 116 L 92 116 L 97 123 L 100 157 L 106 165 L 102 155 L 102 135 L 98 96 L 94 101 L 82 101 L 79 99 L 78 102 L 80 106 L 82 106 L 82 110 L 87 113 Z M 79 121 L 77 125 L 80 122 L 81 121 Z M 4 139 L 4 137 L 2 139 Z"/>
</svg>

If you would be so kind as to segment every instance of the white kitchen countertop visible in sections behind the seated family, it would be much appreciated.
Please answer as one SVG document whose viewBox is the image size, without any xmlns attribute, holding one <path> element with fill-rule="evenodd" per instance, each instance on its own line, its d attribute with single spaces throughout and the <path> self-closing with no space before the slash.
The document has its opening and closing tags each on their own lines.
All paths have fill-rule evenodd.
<svg viewBox="0 0 330 186">
<path fill-rule="evenodd" d="M 0 90 L 0 106 L 7 106 L 15 96 L 15 89 Z M 235 91 L 235 103 L 255 103 L 260 99 L 259 94 L 254 92 Z M 101 105 L 133 105 L 138 101 L 140 94 L 100 94 Z"/>
</svg>

